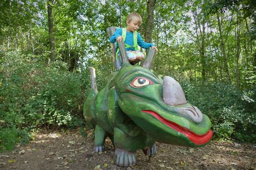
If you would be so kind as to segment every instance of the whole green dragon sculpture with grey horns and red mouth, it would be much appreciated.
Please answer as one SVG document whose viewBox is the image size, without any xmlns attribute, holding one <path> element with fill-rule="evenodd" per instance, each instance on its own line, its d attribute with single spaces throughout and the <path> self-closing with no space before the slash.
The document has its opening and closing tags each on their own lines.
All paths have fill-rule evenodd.
<svg viewBox="0 0 256 170">
<path fill-rule="evenodd" d="M 108 29 L 109 36 L 114 29 Z M 123 41 L 118 45 L 123 64 L 120 67 L 114 60 L 116 71 L 99 92 L 95 69 L 90 68 L 92 90 L 84 103 L 84 117 L 95 128 L 95 151 L 103 151 L 108 136 L 115 147 L 116 165 L 132 166 L 138 149 L 149 156 L 156 153 L 156 141 L 186 147 L 208 144 L 212 138 L 209 118 L 187 103 L 176 80 L 150 70 L 156 52 L 150 49 L 143 66 L 133 66 Z M 114 51 L 113 46 L 115 56 Z"/>
</svg>

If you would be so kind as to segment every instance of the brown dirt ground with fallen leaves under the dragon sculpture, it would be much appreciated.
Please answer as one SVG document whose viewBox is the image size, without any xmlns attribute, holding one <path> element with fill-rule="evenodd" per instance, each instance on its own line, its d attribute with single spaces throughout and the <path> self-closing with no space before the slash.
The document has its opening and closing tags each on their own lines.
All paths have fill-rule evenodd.
<svg viewBox="0 0 256 170">
<path fill-rule="evenodd" d="M 83 138 L 77 131 L 39 133 L 30 144 L 0 154 L 0 169 L 256 169 L 254 145 L 218 141 L 201 148 L 157 143 L 157 154 L 150 161 L 138 151 L 137 164 L 122 168 L 114 165 L 110 140 L 104 152 L 95 153 L 92 131 L 87 134 Z"/>
</svg>

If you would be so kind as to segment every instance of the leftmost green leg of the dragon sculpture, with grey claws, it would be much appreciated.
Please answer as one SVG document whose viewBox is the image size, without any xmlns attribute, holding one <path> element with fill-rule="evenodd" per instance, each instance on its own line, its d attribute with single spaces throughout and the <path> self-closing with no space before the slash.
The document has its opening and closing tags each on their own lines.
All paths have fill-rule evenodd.
<svg viewBox="0 0 256 170">
<path fill-rule="evenodd" d="M 99 125 L 95 126 L 95 152 L 103 152 L 106 132 Z"/>
</svg>

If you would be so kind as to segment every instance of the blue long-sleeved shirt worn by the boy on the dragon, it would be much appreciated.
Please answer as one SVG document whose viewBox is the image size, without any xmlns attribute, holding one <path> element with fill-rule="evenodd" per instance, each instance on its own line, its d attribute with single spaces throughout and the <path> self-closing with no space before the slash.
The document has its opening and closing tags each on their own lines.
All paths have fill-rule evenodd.
<svg viewBox="0 0 256 170">
<path fill-rule="evenodd" d="M 122 36 L 122 29 L 117 29 L 116 32 L 110 37 L 110 42 L 111 43 L 116 43 L 117 42 L 117 37 Z M 137 31 L 137 41 L 138 45 L 142 47 L 143 49 L 149 49 L 149 47 L 154 46 L 152 43 L 145 43 L 142 39 L 142 36 L 140 36 L 139 32 Z M 126 30 L 126 38 L 124 43 L 129 44 L 133 46 L 133 32 L 127 31 Z M 126 48 L 126 51 L 132 50 L 134 51 L 134 48 Z"/>
</svg>

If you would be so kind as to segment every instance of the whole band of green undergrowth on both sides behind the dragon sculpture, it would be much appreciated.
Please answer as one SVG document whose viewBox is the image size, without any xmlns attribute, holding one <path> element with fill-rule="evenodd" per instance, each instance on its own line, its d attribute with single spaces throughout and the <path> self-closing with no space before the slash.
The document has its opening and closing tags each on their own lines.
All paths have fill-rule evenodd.
<svg viewBox="0 0 256 170">
<path fill-rule="evenodd" d="M 16 142 L 26 144 L 40 127 L 85 125 L 82 109 L 90 90 L 88 69 L 69 72 L 62 62 L 47 64 L 18 52 L 4 56 L 1 65 L 0 152 L 14 148 Z M 100 89 L 107 77 L 97 77 Z M 210 117 L 215 139 L 255 141 L 255 91 L 187 80 L 181 86 L 188 101 Z"/>
</svg>

